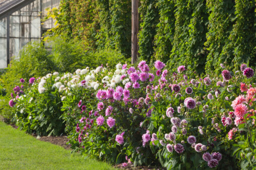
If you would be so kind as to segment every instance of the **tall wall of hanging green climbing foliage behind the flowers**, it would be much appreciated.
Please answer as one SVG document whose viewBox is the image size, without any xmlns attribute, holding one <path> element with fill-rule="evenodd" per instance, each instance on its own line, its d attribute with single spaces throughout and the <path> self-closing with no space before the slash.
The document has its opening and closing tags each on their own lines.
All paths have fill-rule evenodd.
<svg viewBox="0 0 256 170">
<path fill-rule="evenodd" d="M 256 63 L 256 0 L 140 0 L 139 55 L 197 72 Z M 88 49 L 131 56 L 131 0 L 62 0 L 59 28 Z"/>
</svg>

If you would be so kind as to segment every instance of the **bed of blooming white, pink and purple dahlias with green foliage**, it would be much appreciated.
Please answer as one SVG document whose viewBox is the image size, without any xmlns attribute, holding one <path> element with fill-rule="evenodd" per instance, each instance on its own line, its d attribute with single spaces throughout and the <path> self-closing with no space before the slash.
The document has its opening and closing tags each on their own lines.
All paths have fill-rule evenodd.
<svg viewBox="0 0 256 170">
<path fill-rule="evenodd" d="M 202 77 L 159 60 L 53 72 L 21 79 L 9 104 L 21 129 L 65 131 L 74 151 L 123 166 L 255 168 L 254 71 L 220 66 Z"/>
</svg>

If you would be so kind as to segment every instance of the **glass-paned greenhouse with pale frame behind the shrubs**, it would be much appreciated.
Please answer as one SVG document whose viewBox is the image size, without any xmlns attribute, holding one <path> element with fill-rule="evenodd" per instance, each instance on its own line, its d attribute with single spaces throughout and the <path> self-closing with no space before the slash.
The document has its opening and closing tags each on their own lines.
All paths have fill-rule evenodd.
<svg viewBox="0 0 256 170">
<path fill-rule="evenodd" d="M 52 18 L 42 21 L 47 8 L 60 0 L 0 0 L 0 68 L 5 68 L 29 41 L 40 41 L 54 26 Z"/>
</svg>

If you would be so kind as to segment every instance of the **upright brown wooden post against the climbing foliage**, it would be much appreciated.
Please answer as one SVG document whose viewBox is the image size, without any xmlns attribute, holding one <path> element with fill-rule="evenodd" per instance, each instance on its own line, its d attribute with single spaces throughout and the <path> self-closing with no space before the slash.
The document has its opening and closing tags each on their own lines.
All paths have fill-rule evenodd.
<svg viewBox="0 0 256 170">
<path fill-rule="evenodd" d="M 139 0 L 132 0 L 132 64 L 138 58 Z"/>
</svg>

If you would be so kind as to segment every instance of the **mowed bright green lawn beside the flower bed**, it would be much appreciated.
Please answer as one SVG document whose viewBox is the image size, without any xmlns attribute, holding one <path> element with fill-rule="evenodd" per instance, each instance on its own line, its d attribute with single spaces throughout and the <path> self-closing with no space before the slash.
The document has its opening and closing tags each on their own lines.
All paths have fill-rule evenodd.
<svg viewBox="0 0 256 170">
<path fill-rule="evenodd" d="M 0 169 L 115 169 L 0 121 Z"/>
</svg>

